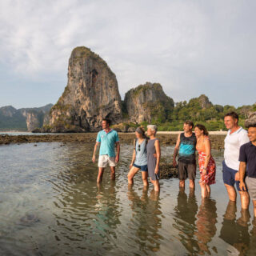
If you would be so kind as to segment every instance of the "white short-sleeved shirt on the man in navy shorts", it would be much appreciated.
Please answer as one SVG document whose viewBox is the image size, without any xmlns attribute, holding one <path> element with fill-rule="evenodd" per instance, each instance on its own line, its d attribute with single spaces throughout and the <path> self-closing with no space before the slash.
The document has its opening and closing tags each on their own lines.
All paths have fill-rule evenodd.
<svg viewBox="0 0 256 256">
<path fill-rule="evenodd" d="M 226 134 L 225 138 L 225 150 L 224 158 L 226 166 L 234 170 L 239 170 L 239 150 L 243 144 L 250 142 L 247 131 L 240 127 L 233 134 L 230 134 L 230 130 Z"/>
</svg>

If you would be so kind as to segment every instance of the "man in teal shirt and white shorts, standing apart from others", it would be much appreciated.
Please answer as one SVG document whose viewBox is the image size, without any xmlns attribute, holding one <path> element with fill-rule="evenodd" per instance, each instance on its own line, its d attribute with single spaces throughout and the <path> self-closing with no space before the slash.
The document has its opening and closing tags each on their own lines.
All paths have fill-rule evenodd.
<svg viewBox="0 0 256 256">
<path fill-rule="evenodd" d="M 110 120 L 102 120 L 103 130 L 98 132 L 96 144 L 94 146 L 93 162 L 95 162 L 95 154 L 100 144 L 99 157 L 98 157 L 98 178 L 97 182 L 102 182 L 102 175 L 107 165 L 110 166 L 111 178 L 115 179 L 115 166 L 119 161 L 120 143 L 118 133 L 110 129 Z M 114 147 L 117 146 L 117 154 L 115 154 Z"/>
</svg>

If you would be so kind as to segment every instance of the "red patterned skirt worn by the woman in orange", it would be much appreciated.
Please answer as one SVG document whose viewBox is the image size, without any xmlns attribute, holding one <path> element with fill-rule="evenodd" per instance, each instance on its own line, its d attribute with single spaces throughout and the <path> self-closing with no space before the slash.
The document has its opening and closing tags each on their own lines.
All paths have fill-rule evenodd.
<svg viewBox="0 0 256 256">
<path fill-rule="evenodd" d="M 216 174 L 216 165 L 214 158 L 210 156 L 210 161 L 207 166 L 206 174 L 202 174 L 203 166 L 206 161 L 206 153 L 198 150 L 198 163 L 199 163 L 199 170 L 200 170 L 200 181 L 203 184 L 211 185 L 215 183 L 215 174 Z"/>
</svg>

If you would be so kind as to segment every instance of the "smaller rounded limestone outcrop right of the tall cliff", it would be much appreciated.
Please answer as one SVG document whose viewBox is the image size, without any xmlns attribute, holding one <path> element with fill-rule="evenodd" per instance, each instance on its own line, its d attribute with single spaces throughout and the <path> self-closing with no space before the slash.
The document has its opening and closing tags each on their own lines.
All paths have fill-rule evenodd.
<svg viewBox="0 0 256 256">
<path fill-rule="evenodd" d="M 130 122 L 165 122 L 174 109 L 174 101 L 166 96 L 159 83 L 146 82 L 126 93 L 124 108 Z"/>
</svg>

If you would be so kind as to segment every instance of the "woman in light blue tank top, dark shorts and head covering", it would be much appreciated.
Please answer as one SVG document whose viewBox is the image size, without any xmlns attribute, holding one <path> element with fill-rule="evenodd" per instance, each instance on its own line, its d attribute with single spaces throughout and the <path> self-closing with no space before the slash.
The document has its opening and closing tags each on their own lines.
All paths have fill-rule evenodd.
<svg viewBox="0 0 256 256">
<path fill-rule="evenodd" d="M 147 182 L 147 156 L 146 156 L 146 144 L 148 138 L 146 138 L 145 131 L 142 127 L 138 127 L 135 131 L 136 139 L 134 140 L 134 154 L 130 162 L 130 171 L 127 175 L 128 183 L 134 184 L 134 175 L 138 173 L 138 170 L 142 170 L 142 181 L 144 186 L 148 186 Z"/>
</svg>

